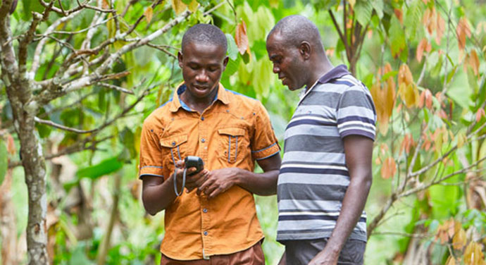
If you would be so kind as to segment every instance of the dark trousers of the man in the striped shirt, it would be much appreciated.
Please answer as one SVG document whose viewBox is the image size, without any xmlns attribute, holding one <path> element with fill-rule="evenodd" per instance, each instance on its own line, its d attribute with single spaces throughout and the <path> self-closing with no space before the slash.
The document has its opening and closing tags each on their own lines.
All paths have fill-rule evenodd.
<svg viewBox="0 0 486 265">
<path fill-rule="evenodd" d="M 285 259 L 287 265 L 307 265 L 322 251 L 328 243 L 328 238 L 315 240 L 288 240 L 285 245 Z M 347 240 L 339 254 L 339 265 L 363 265 L 366 242 L 361 240 Z"/>
</svg>

